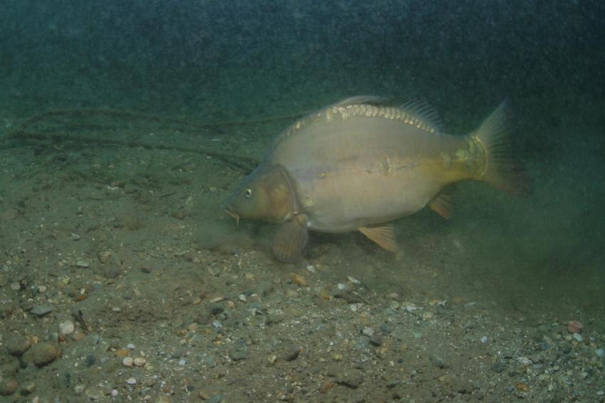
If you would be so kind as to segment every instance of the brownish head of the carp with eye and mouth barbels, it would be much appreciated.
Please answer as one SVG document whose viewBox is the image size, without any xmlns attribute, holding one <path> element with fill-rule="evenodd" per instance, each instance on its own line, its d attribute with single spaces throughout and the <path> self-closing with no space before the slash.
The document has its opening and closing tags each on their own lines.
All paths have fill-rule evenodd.
<svg viewBox="0 0 605 403">
<path fill-rule="evenodd" d="M 261 165 L 228 197 L 223 208 L 240 218 L 283 222 L 295 212 L 295 191 L 282 166 Z"/>
</svg>

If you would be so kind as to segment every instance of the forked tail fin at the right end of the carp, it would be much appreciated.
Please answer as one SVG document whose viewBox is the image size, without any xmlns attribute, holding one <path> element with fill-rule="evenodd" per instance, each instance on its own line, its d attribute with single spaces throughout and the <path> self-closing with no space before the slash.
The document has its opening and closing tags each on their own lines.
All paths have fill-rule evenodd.
<svg viewBox="0 0 605 403">
<path fill-rule="evenodd" d="M 486 154 L 485 170 L 477 179 L 509 193 L 525 195 L 530 192 L 531 186 L 523 164 L 512 149 L 510 118 L 510 102 L 506 99 L 477 131 L 470 134 L 483 145 Z"/>
</svg>

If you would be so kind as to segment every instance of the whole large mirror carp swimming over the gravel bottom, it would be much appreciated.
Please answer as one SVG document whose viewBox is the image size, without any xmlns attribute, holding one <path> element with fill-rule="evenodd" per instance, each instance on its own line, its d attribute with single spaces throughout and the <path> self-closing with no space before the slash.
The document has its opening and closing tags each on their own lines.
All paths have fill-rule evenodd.
<svg viewBox="0 0 605 403">
<path fill-rule="evenodd" d="M 359 231 L 397 252 L 394 220 L 427 205 L 449 218 L 455 183 L 529 193 L 511 134 L 507 99 L 475 131 L 452 135 L 422 99 L 350 97 L 276 136 L 223 208 L 236 222 L 278 223 L 272 250 L 281 262 L 302 259 L 310 231 Z"/>
</svg>

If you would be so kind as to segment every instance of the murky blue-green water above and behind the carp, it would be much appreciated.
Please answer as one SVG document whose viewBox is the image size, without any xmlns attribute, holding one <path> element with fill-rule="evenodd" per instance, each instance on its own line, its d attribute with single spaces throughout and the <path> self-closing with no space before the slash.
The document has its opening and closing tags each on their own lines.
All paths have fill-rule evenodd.
<svg viewBox="0 0 605 403">
<path fill-rule="evenodd" d="M 4 0 L 0 106 L 204 122 L 413 90 L 463 133 L 510 97 L 535 190 L 463 186 L 458 231 L 482 262 L 465 275 L 602 314 L 604 43 L 602 1 Z"/>
</svg>

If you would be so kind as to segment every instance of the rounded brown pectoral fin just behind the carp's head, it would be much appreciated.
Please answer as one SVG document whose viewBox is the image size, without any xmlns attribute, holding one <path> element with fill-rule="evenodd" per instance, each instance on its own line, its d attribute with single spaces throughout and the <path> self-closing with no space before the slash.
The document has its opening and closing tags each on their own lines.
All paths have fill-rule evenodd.
<svg viewBox="0 0 605 403">
<path fill-rule="evenodd" d="M 280 262 L 297 262 L 308 241 L 307 217 L 296 215 L 279 227 L 273 239 L 273 255 Z"/>
</svg>

